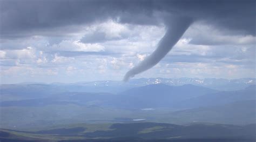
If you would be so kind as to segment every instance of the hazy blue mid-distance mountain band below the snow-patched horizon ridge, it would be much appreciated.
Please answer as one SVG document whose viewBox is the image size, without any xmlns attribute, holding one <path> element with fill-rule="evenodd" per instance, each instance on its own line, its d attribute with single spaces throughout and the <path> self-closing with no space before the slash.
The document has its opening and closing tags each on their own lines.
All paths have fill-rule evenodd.
<svg viewBox="0 0 256 142">
<path fill-rule="evenodd" d="M 214 106 L 241 100 L 254 100 L 256 85 L 238 91 L 218 91 L 191 84 L 170 86 L 151 84 L 117 93 L 71 92 L 51 85 L 30 84 L 2 90 L 2 97 L 16 97 L 18 100 L 0 100 L 0 106 L 45 106 L 50 104 L 100 105 L 142 109 L 172 107 L 189 109 Z M 32 87 L 32 88 L 30 88 Z M 44 90 L 44 91 L 42 91 Z M 62 92 L 63 91 L 63 92 Z M 34 96 L 31 98 L 31 96 Z M 21 99 L 21 100 L 20 100 Z"/>
</svg>

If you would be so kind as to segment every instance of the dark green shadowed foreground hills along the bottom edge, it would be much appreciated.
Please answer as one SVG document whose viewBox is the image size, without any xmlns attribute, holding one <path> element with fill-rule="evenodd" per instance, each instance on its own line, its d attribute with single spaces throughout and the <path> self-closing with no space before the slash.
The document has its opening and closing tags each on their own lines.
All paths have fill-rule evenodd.
<svg viewBox="0 0 256 142">
<path fill-rule="evenodd" d="M 0 130 L 1 141 L 254 141 L 255 124 L 78 124 L 39 131 Z"/>
</svg>

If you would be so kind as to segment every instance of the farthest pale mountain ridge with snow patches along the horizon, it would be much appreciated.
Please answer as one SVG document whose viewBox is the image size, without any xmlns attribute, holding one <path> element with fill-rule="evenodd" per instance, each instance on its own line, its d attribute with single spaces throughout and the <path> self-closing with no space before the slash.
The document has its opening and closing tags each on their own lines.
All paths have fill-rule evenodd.
<svg viewBox="0 0 256 142">
<path fill-rule="evenodd" d="M 129 82 L 124 83 L 122 81 L 114 80 L 99 80 L 95 82 L 78 82 L 73 83 L 72 85 L 83 85 L 83 86 L 145 86 L 150 84 L 167 84 L 171 86 L 180 86 L 185 84 L 193 84 L 198 86 L 205 87 L 215 87 L 214 89 L 220 87 L 225 91 L 225 87 L 228 87 L 226 90 L 229 90 L 232 86 L 238 87 L 237 90 L 244 89 L 245 86 L 256 84 L 256 78 L 239 78 L 239 79 L 223 79 L 223 78 L 139 78 L 131 79 Z M 60 83 L 52 83 L 59 84 Z"/>
</svg>

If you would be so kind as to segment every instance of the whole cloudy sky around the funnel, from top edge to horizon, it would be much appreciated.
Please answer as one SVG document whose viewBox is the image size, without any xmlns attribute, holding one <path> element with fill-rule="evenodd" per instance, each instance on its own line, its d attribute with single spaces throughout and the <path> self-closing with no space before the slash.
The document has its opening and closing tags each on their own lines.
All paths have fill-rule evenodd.
<svg viewBox="0 0 256 142">
<path fill-rule="evenodd" d="M 255 78 L 255 1 L 0 1 L 1 83 L 122 80 L 173 17 L 193 23 L 135 78 Z"/>
</svg>

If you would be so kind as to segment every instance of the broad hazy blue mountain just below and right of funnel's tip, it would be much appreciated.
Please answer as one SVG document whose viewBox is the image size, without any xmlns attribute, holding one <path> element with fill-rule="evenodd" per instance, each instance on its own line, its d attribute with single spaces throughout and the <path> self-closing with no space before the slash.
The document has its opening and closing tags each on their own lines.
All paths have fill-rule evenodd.
<svg viewBox="0 0 256 142">
<path fill-rule="evenodd" d="M 195 85 L 151 84 L 119 93 L 110 104 L 127 108 L 172 107 L 182 100 L 216 92 L 218 91 Z"/>
</svg>

